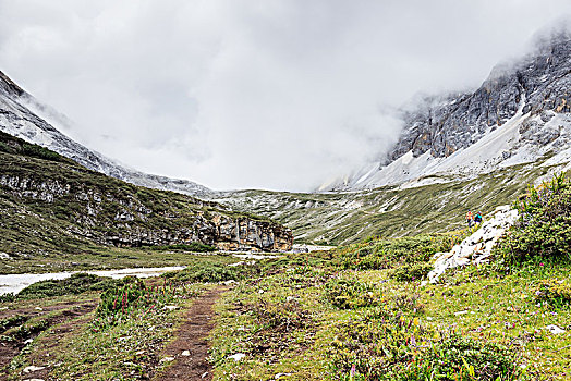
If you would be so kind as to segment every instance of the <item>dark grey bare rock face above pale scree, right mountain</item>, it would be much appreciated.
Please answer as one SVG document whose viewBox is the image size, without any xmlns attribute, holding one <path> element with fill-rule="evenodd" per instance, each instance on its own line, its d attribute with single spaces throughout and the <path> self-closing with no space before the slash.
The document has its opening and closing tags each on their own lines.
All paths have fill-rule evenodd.
<svg viewBox="0 0 571 381">
<path fill-rule="evenodd" d="M 448 157 L 482 138 L 512 118 L 524 101 L 523 114 L 540 115 L 542 125 L 554 113 L 571 111 L 571 36 L 560 32 L 539 41 L 538 50 L 513 65 L 496 66 L 472 94 L 427 97 L 403 114 L 408 125 L 391 162 L 408 151 Z M 540 127 L 540 125 L 539 125 Z M 530 134 L 532 135 L 532 134 Z M 537 145 L 556 138 L 556 132 L 529 136 Z"/>
</svg>

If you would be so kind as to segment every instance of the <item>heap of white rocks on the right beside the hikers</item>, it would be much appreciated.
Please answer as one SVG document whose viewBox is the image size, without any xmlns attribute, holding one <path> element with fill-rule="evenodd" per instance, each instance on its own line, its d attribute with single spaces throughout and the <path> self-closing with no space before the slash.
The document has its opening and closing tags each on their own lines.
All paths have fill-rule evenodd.
<svg viewBox="0 0 571 381">
<path fill-rule="evenodd" d="M 428 281 L 437 283 L 441 274 L 448 269 L 471 263 L 478 265 L 489 260 L 491 248 L 518 219 L 518 210 L 509 206 L 496 208 L 491 220 L 482 223 L 482 226 L 460 245 L 452 247 L 450 253 L 437 253 L 434 270 L 428 273 Z"/>
</svg>

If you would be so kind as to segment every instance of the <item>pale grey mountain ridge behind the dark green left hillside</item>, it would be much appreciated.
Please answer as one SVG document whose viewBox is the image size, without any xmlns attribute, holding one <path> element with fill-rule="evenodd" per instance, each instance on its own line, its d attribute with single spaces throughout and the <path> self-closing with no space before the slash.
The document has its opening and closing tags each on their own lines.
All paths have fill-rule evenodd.
<svg viewBox="0 0 571 381">
<path fill-rule="evenodd" d="M 40 116 L 44 114 L 50 116 L 50 122 Z M 207 187 L 187 180 L 147 174 L 121 165 L 72 140 L 56 128 L 69 123 L 64 115 L 36 100 L 0 72 L 0 131 L 54 150 L 90 170 L 135 185 L 201 197 L 211 194 Z"/>
</svg>

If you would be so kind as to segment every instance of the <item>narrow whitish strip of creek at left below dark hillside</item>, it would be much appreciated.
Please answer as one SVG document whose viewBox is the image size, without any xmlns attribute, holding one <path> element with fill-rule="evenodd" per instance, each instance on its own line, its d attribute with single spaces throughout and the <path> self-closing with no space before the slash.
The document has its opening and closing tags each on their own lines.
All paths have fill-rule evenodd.
<svg viewBox="0 0 571 381">
<path fill-rule="evenodd" d="M 28 285 L 47 280 L 62 280 L 70 278 L 77 272 L 86 272 L 99 276 L 109 276 L 121 279 L 124 276 L 150 278 L 157 276 L 168 271 L 182 270 L 184 267 L 162 267 L 162 268 L 135 268 L 120 270 L 94 270 L 94 271 L 73 271 L 73 272 L 53 272 L 47 274 L 9 274 L 0 275 L 0 295 L 8 293 L 19 293 Z"/>
</svg>

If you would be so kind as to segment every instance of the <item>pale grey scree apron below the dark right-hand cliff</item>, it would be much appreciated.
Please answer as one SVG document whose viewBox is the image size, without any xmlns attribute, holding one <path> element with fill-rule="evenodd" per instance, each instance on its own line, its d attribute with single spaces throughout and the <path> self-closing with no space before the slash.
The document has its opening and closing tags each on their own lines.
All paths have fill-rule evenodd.
<svg viewBox="0 0 571 381">
<path fill-rule="evenodd" d="M 455 180 L 473 179 L 499 168 L 534 162 L 548 152 L 558 152 L 545 165 L 571 162 L 571 115 L 555 114 L 542 131 L 559 131 L 556 139 L 547 144 L 530 142 L 520 133 L 523 123 L 533 124 L 539 115 L 523 114 L 525 98 L 520 101 L 517 113 L 501 126 L 491 126 L 476 143 L 461 148 L 446 158 L 435 158 L 430 151 L 414 157 L 412 150 L 378 171 L 367 172 L 350 184 L 352 188 L 375 188 L 386 185 L 400 185 L 400 188 L 446 183 Z M 533 136 L 535 137 L 535 135 Z M 540 137 L 538 138 L 540 139 Z M 571 164 L 569 164 L 571 168 Z"/>
</svg>

